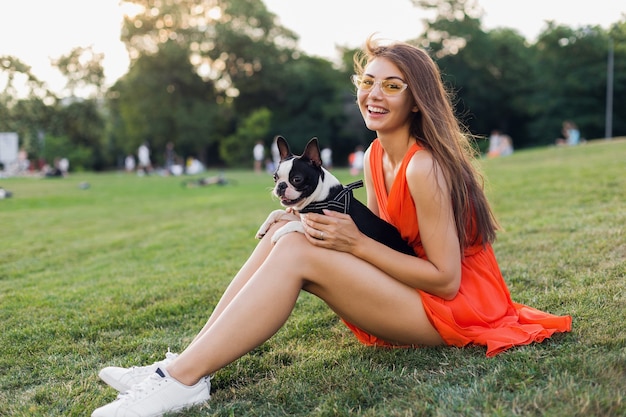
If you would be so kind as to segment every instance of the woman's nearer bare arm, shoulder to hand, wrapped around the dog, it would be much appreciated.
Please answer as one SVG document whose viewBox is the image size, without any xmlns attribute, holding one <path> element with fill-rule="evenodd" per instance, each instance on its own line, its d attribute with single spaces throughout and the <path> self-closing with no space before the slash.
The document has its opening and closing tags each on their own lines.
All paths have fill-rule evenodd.
<svg viewBox="0 0 626 417">
<path fill-rule="evenodd" d="M 452 299 L 461 282 L 461 250 L 446 182 L 425 151 L 413 156 L 406 175 L 428 259 L 405 255 L 367 237 L 342 213 L 307 215 L 307 236 L 317 246 L 352 253 L 411 287 Z M 375 196 L 367 171 L 366 184 L 371 204 L 370 198 L 375 200 Z M 320 231 L 326 231 L 324 240 L 313 237 Z"/>
</svg>

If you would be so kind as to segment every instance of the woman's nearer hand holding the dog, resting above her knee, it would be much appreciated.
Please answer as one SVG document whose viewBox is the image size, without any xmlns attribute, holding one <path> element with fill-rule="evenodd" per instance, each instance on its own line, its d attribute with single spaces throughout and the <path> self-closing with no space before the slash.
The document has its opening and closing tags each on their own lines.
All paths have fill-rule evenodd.
<svg viewBox="0 0 626 417">
<path fill-rule="evenodd" d="M 315 246 L 353 253 L 364 237 L 348 214 L 324 210 L 324 214 L 306 213 L 300 218 L 306 238 Z"/>
</svg>

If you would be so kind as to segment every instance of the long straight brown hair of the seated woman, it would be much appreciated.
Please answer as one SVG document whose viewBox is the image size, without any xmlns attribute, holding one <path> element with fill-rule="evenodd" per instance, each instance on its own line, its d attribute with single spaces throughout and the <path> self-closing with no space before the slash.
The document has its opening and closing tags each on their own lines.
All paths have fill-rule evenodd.
<svg viewBox="0 0 626 417">
<path fill-rule="evenodd" d="M 461 248 L 492 243 L 498 222 L 485 196 L 483 177 L 472 164 L 476 151 L 471 135 L 454 114 L 452 94 L 445 88 L 437 64 L 425 51 L 408 43 L 383 44 L 370 36 L 354 56 L 357 74 L 376 58 L 393 62 L 409 85 L 419 109 L 411 121 L 410 134 L 432 153 L 434 169 L 441 168 L 450 190 Z"/>
</svg>

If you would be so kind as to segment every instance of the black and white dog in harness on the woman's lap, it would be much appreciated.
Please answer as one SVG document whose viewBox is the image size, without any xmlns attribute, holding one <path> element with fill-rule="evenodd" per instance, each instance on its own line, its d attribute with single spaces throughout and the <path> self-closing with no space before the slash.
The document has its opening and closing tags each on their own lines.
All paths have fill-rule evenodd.
<svg viewBox="0 0 626 417">
<path fill-rule="evenodd" d="M 280 163 L 274 173 L 273 194 L 280 199 L 283 207 L 291 207 L 300 213 L 322 213 L 323 209 L 347 213 L 365 235 L 399 252 L 415 255 L 392 224 L 375 215 L 354 198 L 352 190 L 361 187 L 362 181 L 344 187 L 334 175 L 322 167 L 317 138 L 307 143 L 302 155 L 291 153 L 289 144 L 282 136 L 276 137 L 276 144 Z M 299 217 L 285 210 L 274 210 L 261 225 L 256 237 L 261 239 L 270 226 L 279 220 L 289 222 L 274 233 L 272 242 L 277 242 L 286 233 L 304 233 Z"/>
</svg>

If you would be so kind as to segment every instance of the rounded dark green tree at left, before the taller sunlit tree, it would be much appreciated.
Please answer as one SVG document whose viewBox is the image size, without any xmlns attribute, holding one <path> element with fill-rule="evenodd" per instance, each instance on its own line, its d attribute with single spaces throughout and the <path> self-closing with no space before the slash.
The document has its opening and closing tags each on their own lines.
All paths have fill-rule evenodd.
<svg viewBox="0 0 626 417">
<path fill-rule="evenodd" d="M 204 82 L 189 62 L 189 53 L 176 42 L 144 54 L 109 94 L 113 148 L 120 155 L 135 153 L 148 141 L 154 162 L 173 142 L 181 156 L 200 157 L 215 141 L 218 109 L 211 82 Z"/>
</svg>

